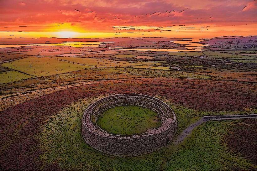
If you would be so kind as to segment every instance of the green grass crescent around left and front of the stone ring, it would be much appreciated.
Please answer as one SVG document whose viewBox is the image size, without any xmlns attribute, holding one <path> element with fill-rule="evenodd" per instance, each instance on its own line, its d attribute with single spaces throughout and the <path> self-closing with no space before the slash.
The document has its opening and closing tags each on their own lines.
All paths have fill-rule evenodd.
<svg viewBox="0 0 257 171">
<path fill-rule="evenodd" d="M 42 132 L 36 135 L 43 154 L 38 158 L 43 170 L 57 164 L 64 170 L 158 170 L 162 155 L 122 158 L 109 156 L 87 145 L 81 135 L 83 112 L 93 101 L 84 99 L 72 103 L 45 121 Z"/>
</svg>

